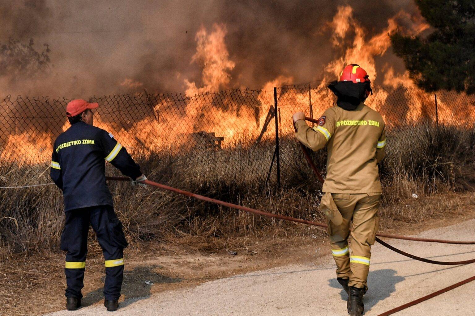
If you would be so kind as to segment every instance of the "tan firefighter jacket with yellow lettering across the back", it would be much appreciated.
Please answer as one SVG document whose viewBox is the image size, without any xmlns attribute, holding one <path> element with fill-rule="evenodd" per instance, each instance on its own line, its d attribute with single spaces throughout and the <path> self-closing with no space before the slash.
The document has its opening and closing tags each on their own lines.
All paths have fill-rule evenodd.
<svg viewBox="0 0 475 316">
<path fill-rule="evenodd" d="M 327 176 L 323 192 L 381 193 L 377 162 L 384 157 L 384 121 L 375 110 L 361 103 L 355 110 L 328 108 L 313 128 L 295 122 L 295 136 L 317 151 L 328 148 Z"/>
</svg>

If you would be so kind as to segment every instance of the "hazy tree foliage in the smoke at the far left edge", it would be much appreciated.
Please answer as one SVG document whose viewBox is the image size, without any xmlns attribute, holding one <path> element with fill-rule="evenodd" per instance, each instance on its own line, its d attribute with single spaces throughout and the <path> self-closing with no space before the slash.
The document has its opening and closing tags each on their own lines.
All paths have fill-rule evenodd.
<svg viewBox="0 0 475 316">
<path fill-rule="evenodd" d="M 50 65 L 49 47 L 43 44 L 43 51 L 38 52 L 34 45 L 33 39 L 23 44 L 11 37 L 8 43 L 0 44 L 0 76 L 22 79 L 45 73 Z"/>
</svg>

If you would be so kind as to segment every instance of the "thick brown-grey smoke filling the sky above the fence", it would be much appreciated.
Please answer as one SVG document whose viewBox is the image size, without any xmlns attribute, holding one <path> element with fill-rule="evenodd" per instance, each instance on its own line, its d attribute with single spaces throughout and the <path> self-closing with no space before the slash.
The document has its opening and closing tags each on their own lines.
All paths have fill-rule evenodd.
<svg viewBox="0 0 475 316">
<path fill-rule="evenodd" d="M 364 30 L 362 43 L 384 36 L 388 19 L 401 10 L 420 17 L 411 0 L 2 1 L 0 43 L 33 38 L 39 51 L 48 43 L 52 66 L 38 78 L 12 81 L 7 74 L 0 93 L 87 98 L 322 79 L 328 65 L 354 45 L 354 25 L 334 35 L 331 22 L 342 6 L 352 8 L 352 19 Z M 210 43 L 225 55 L 209 57 Z M 388 63 L 396 74 L 405 71 L 388 47 L 374 63 L 378 73 Z M 213 67 L 221 75 L 213 77 Z"/>
</svg>

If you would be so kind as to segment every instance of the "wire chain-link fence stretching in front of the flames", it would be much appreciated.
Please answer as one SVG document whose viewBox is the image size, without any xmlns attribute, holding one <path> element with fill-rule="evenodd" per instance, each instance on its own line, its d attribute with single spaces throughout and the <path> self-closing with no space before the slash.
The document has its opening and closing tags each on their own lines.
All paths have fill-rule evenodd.
<svg viewBox="0 0 475 316">
<path fill-rule="evenodd" d="M 69 99 L 8 96 L 1 101 L 0 157 L 15 163 L 47 163 L 57 135 L 69 127 Z M 113 133 L 126 148 L 167 155 L 205 177 L 238 181 L 276 180 L 276 126 L 282 178 L 302 160 L 293 138 L 292 114 L 318 118 L 334 105 L 333 93 L 321 84 L 273 90 L 230 89 L 196 96 L 120 94 L 92 97 L 98 102 L 95 126 Z M 275 104 L 277 103 L 277 107 Z M 388 154 L 397 155 L 406 133 L 417 146 L 427 126 L 474 128 L 473 96 L 440 91 L 375 87 L 365 102 L 379 111 L 387 126 Z M 277 108 L 277 116 L 276 116 Z M 276 124 L 277 120 L 277 124 Z M 394 138 L 391 140 L 391 138 Z"/>
</svg>

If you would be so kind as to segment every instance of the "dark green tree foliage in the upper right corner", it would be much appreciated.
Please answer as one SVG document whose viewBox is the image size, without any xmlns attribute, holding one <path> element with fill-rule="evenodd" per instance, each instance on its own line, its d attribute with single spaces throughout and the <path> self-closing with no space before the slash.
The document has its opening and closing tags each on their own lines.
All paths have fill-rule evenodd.
<svg viewBox="0 0 475 316">
<path fill-rule="evenodd" d="M 425 91 L 475 92 L 474 0 L 415 0 L 433 27 L 426 38 L 391 36 L 394 52 Z"/>
</svg>

